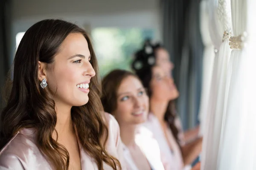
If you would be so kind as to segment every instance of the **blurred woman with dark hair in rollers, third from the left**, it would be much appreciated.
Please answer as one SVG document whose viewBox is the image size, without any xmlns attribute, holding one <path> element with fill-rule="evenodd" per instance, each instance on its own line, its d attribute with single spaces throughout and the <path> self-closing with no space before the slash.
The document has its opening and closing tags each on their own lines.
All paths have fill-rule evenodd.
<svg viewBox="0 0 256 170">
<path fill-rule="evenodd" d="M 132 63 L 137 76 L 148 89 L 150 112 L 145 127 L 154 134 L 161 152 L 172 161 L 172 170 L 181 170 L 192 164 L 201 151 L 201 139 L 183 145 L 179 128 L 175 123 L 177 114 L 175 99 L 179 92 L 170 75 L 156 62 L 156 51 L 149 42 L 137 51 Z"/>
</svg>

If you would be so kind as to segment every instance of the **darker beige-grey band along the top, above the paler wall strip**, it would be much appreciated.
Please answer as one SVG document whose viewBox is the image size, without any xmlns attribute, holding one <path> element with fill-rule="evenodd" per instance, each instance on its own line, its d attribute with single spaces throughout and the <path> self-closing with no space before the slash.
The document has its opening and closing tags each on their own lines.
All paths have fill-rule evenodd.
<svg viewBox="0 0 256 170">
<path fill-rule="evenodd" d="M 13 0 L 13 16 L 23 17 L 61 13 L 113 14 L 155 11 L 159 0 Z"/>
</svg>

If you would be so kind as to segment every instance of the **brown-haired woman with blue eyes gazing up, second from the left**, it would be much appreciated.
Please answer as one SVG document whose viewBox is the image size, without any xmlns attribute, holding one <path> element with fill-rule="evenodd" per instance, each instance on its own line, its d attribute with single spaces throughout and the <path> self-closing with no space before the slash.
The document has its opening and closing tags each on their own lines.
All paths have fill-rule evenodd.
<svg viewBox="0 0 256 170">
<path fill-rule="evenodd" d="M 149 101 L 140 79 L 125 70 L 113 70 L 102 80 L 102 105 L 120 127 L 124 159 L 129 170 L 169 170 L 152 133 L 141 126 Z M 167 160 L 166 160 L 167 161 Z"/>
</svg>

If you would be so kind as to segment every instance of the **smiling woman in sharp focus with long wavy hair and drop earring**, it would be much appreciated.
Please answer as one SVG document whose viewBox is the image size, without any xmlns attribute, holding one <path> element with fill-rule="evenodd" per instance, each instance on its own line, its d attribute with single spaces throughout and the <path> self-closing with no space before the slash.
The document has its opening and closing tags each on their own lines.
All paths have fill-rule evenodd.
<svg viewBox="0 0 256 170">
<path fill-rule="evenodd" d="M 31 26 L 1 113 L 0 169 L 121 169 L 119 126 L 103 111 L 97 74 L 83 29 L 52 19 Z"/>
</svg>

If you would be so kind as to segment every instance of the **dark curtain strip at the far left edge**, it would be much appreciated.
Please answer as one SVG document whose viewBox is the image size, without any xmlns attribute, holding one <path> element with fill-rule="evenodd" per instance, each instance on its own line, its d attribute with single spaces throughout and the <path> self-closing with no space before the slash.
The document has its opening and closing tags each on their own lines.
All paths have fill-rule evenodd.
<svg viewBox="0 0 256 170">
<path fill-rule="evenodd" d="M 10 0 L 0 0 L 0 111 L 3 108 L 3 85 L 10 69 L 9 40 L 11 26 Z"/>
</svg>

